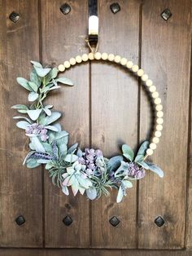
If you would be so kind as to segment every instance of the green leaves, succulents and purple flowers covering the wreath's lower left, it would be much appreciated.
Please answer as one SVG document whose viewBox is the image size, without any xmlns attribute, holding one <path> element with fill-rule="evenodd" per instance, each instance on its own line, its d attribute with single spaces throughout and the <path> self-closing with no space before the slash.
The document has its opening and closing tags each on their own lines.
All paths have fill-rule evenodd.
<svg viewBox="0 0 192 256">
<path fill-rule="evenodd" d="M 147 141 L 142 143 L 136 156 L 128 145 L 123 144 L 122 153 L 110 159 L 104 157 L 99 149 L 85 148 L 82 151 L 78 143 L 68 148 L 68 131 L 62 130 L 57 122 L 61 113 L 52 111 L 53 105 L 44 105 L 43 100 L 51 90 L 59 89 L 59 85 L 73 86 L 73 83 L 66 77 L 58 77 L 57 68 L 43 68 L 35 61 L 31 63 L 30 80 L 17 77 L 19 85 L 28 90 L 31 105 L 11 107 L 25 115 L 13 118 L 21 120 L 16 126 L 23 129 L 29 138 L 30 151 L 24 159 L 28 168 L 45 165 L 52 183 L 62 188 L 65 195 L 69 195 L 71 187 L 74 196 L 77 192 L 81 195 L 86 193 L 90 200 L 94 200 L 103 194 L 108 196 L 108 190 L 116 188 L 118 203 L 133 187 L 133 180 L 145 177 L 146 170 L 161 178 L 164 176 L 158 166 L 146 161 Z"/>
</svg>

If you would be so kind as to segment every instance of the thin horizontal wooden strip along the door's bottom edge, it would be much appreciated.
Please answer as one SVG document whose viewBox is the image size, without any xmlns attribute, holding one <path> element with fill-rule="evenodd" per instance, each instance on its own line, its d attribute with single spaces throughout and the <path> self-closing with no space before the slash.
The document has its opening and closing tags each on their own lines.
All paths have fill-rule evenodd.
<svg viewBox="0 0 192 256">
<path fill-rule="evenodd" d="M 136 249 L 0 249 L 0 256 L 191 256 L 185 250 Z"/>
</svg>

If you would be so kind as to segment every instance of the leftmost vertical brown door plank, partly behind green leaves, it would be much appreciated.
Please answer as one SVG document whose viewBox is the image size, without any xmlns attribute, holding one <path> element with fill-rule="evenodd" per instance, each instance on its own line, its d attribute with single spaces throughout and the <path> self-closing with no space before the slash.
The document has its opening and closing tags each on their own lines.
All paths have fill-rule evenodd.
<svg viewBox="0 0 192 256">
<path fill-rule="evenodd" d="M 15 127 L 14 104 L 27 104 L 16 77 L 28 78 L 30 60 L 39 59 L 38 1 L 0 1 L 0 246 L 41 247 L 41 169 L 28 170 L 22 161 L 28 139 Z M 20 14 L 14 24 L 9 15 Z M 22 226 L 15 218 L 24 215 Z"/>
</svg>

